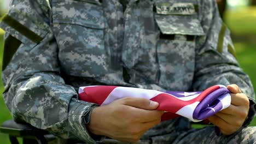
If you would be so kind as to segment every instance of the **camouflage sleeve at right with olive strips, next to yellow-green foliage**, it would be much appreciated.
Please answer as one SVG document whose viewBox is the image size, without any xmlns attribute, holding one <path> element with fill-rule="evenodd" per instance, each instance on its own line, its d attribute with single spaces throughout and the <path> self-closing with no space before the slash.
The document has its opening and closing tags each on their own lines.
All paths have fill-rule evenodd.
<svg viewBox="0 0 256 144">
<path fill-rule="evenodd" d="M 230 31 L 219 17 L 215 1 L 201 1 L 201 24 L 205 35 L 196 39 L 196 66 L 194 90 L 203 91 L 212 85 L 235 83 L 250 101 L 248 118 L 243 126 L 251 123 L 255 115 L 255 94 L 251 80 L 236 60 Z"/>
</svg>

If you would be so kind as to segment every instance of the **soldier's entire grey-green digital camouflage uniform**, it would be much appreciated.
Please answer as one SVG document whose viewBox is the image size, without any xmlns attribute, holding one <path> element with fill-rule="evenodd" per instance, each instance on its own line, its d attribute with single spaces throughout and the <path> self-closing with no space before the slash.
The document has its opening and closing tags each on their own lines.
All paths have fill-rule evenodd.
<svg viewBox="0 0 256 144">
<path fill-rule="evenodd" d="M 250 100 L 243 127 L 252 121 L 253 87 L 236 61 L 230 31 L 213 0 L 121 2 L 124 5 L 118 0 L 12 2 L 1 27 L 6 31 L 5 51 L 13 45 L 18 50 L 2 78 L 3 97 L 15 121 L 63 139 L 96 143 L 104 137 L 92 139 L 86 123 L 97 105 L 77 99 L 79 86 L 203 91 L 231 83 Z M 216 136 L 213 129 L 191 129 L 188 119 L 180 117 L 148 130 L 139 143 L 256 139 L 255 127 L 230 136 Z"/>
</svg>

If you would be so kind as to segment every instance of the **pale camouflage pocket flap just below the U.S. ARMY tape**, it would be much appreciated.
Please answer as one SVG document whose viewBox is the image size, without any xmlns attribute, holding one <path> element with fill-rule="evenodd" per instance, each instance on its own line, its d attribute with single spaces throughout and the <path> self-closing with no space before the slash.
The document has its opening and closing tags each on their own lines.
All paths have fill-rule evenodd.
<svg viewBox="0 0 256 144">
<path fill-rule="evenodd" d="M 163 34 L 205 35 L 200 21 L 191 15 L 155 15 Z"/>
</svg>

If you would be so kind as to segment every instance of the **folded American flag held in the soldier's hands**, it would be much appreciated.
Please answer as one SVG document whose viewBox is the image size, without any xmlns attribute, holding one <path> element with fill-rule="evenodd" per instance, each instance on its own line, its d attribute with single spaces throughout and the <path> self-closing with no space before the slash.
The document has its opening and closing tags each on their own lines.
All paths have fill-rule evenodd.
<svg viewBox="0 0 256 144">
<path fill-rule="evenodd" d="M 223 85 L 209 87 L 203 92 L 160 92 L 133 87 L 88 86 L 79 88 L 79 99 L 102 106 L 125 97 L 146 98 L 159 103 L 156 110 L 165 111 L 161 121 L 184 116 L 193 122 L 199 122 L 230 106 L 229 93 Z"/>
</svg>

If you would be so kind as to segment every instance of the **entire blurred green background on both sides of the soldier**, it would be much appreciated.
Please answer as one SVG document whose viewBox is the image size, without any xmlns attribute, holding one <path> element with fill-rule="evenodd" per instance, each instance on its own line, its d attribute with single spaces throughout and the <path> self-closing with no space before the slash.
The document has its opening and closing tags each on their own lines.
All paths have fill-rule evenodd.
<svg viewBox="0 0 256 144">
<path fill-rule="evenodd" d="M 0 0 L 0 15 L 7 12 L 8 1 L 9 0 Z M 222 11 L 223 0 L 217 1 L 220 2 L 220 11 Z M 224 8 L 226 9 L 223 19 L 231 30 L 231 37 L 235 45 L 238 62 L 243 70 L 251 77 L 255 91 L 256 63 L 254 59 L 256 57 L 256 1 L 229 0 L 226 1 L 226 6 Z M 3 57 L 3 34 L 4 31 L 0 29 L 0 69 L 2 68 Z M 2 70 L 0 70 L 0 75 L 1 71 Z M 3 90 L 3 83 L 0 81 L 0 124 L 11 118 L 3 101 Z M 254 118 L 251 125 L 256 126 L 256 118 Z M 0 143 L 10 143 L 8 136 L 0 133 Z"/>
</svg>

